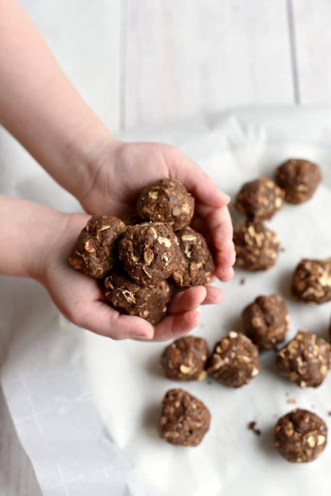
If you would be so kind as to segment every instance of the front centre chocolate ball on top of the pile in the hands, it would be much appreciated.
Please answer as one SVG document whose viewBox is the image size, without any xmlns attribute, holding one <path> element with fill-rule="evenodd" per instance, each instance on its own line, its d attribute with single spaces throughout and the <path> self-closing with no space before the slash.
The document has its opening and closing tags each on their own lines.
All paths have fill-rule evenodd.
<svg viewBox="0 0 331 496">
<path fill-rule="evenodd" d="M 120 240 L 119 253 L 125 270 L 138 284 L 167 279 L 181 259 L 177 238 L 163 222 L 128 226 Z"/>
</svg>

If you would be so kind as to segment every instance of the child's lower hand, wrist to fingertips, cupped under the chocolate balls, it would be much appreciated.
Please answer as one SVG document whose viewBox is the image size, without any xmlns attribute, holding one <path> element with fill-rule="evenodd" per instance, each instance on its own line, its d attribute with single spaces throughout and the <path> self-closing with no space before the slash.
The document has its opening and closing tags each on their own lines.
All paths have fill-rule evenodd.
<svg viewBox="0 0 331 496">
<path fill-rule="evenodd" d="M 61 214 L 53 224 L 52 238 L 43 248 L 37 279 L 46 287 L 54 303 L 74 324 L 113 339 L 174 339 L 199 323 L 196 308 L 220 300 L 220 290 L 203 286 L 178 292 L 166 317 L 155 327 L 140 317 L 121 315 L 107 303 L 102 282 L 74 270 L 67 261 L 74 241 L 89 215 Z"/>
</svg>

